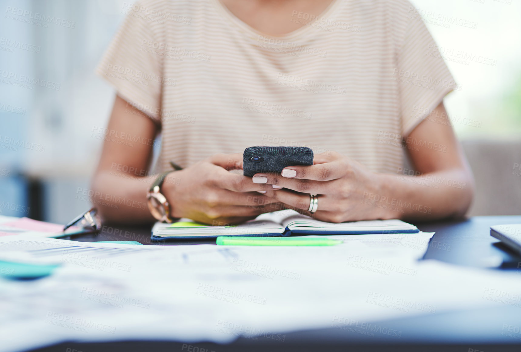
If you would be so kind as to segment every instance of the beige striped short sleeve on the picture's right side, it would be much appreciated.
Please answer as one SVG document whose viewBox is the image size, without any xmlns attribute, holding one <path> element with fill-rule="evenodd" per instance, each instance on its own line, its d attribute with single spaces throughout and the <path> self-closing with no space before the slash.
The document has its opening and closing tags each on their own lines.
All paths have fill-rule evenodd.
<svg viewBox="0 0 521 352">
<path fill-rule="evenodd" d="M 408 7 L 403 45 L 398 52 L 393 80 L 398 82 L 402 135 L 407 136 L 430 115 L 452 90 L 460 90 L 427 30 L 423 19 Z"/>
</svg>

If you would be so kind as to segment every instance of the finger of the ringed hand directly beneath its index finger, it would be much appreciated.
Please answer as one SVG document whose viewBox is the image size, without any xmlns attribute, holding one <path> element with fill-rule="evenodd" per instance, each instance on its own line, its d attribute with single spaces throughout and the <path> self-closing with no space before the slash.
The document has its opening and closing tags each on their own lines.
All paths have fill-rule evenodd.
<svg viewBox="0 0 521 352">
<path fill-rule="evenodd" d="M 271 190 L 274 188 L 280 189 L 280 187 L 288 188 L 289 190 L 293 190 L 301 193 L 309 193 L 309 194 L 328 194 L 331 193 L 331 190 L 334 190 L 334 184 L 337 180 L 331 181 L 314 181 L 314 180 L 306 180 L 306 179 L 293 179 L 282 177 L 280 174 L 276 173 L 257 173 L 253 176 L 254 179 L 262 178 L 262 181 L 271 184 Z M 269 187 L 268 187 L 269 188 Z M 269 190 L 269 189 L 268 189 Z"/>
</svg>

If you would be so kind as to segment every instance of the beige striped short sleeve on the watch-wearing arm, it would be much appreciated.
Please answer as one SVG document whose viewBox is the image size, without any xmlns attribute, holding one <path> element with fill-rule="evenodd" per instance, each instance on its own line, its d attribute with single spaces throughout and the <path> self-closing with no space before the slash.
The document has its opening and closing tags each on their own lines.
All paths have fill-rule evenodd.
<svg viewBox="0 0 521 352">
<path fill-rule="evenodd" d="M 175 80 L 163 77 L 162 24 L 147 14 L 150 11 L 140 10 L 149 8 L 144 3 L 123 7 L 126 18 L 96 74 L 113 85 L 133 107 L 160 124 L 162 85 L 175 85 Z"/>
</svg>

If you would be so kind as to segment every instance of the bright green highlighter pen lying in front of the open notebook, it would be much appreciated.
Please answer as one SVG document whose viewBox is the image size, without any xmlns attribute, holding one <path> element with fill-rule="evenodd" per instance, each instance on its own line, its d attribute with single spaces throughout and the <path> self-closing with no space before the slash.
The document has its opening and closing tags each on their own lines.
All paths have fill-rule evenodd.
<svg viewBox="0 0 521 352">
<path fill-rule="evenodd" d="M 315 237 L 219 236 L 216 243 L 223 246 L 334 246 L 342 241 Z"/>
</svg>

